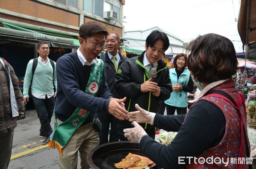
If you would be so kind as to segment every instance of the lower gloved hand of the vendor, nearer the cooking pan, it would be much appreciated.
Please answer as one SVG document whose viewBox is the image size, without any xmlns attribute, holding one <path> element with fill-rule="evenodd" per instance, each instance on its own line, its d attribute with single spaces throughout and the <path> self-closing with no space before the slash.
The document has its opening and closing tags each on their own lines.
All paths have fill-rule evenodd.
<svg viewBox="0 0 256 169">
<path fill-rule="evenodd" d="M 127 137 L 131 143 L 140 143 L 141 138 L 148 134 L 136 121 L 132 122 L 132 124 L 134 125 L 134 128 L 123 129 L 123 132 L 125 132 L 125 137 Z"/>
</svg>

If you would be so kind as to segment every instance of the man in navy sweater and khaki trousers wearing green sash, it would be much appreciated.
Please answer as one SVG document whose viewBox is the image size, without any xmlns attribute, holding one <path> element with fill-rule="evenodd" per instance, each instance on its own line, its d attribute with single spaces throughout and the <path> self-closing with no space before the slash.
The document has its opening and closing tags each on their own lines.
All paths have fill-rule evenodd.
<svg viewBox="0 0 256 169">
<path fill-rule="evenodd" d="M 99 22 L 86 22 L 79 28 L 80 47 L 57 60 L 58 97 L 55 104 L 56 125 L 50 148 L 59 150 L 61 169 L 89 169 L 88 153 L 99 145 L 96 113 L 109 112 L 119 120 L 128 120 L 126 98 L 117 99 L 106 83 L 105 65 L 97 56 L 105 47 L 107 29 Z"/>
</svg>

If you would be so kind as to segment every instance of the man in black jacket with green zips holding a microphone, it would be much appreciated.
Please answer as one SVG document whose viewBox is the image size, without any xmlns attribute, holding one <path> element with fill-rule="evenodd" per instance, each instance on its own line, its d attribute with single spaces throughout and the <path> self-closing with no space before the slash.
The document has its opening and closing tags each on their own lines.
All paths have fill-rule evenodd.
<svg viewBox="0 0 256 169">
<path fill-rule="evenodd" d="M 116 92 L 120 97 L 127 97 L 125 109 L 128 112 L 136 111 L 138 103 L 149 112 L 159 111 L 159 101 L 166 100 L 172 92 L 169 70 L 161 59 L 169 48 L 167 35 L 160 31 L 153 31 L 146 38 L 145 51 L 137 57 L 125 60 L 116 72 Z M 149 123 L 140 123 L 147 134 L 154 138 L 155 127 Z M 117 133 L 120 140 L 124 137 L 123 129 L 134 127 L 128 120 L 119 120 Z"/>
</svg>

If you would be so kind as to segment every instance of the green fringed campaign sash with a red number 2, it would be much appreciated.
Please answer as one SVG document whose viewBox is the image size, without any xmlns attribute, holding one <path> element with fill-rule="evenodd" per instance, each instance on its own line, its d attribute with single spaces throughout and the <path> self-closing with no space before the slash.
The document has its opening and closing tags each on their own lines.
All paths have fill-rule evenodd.
<svg viewBox="0 0 256 169">
<path fill-rule="evenodd" d="M 90 78 L 88 80 L 85 93 L 92 96 L 97 96 L 102 81 L 103 69 L 103 61 L 101 59 L 96 59 L 96 62 L 93 64 L 90 71 Z M 75 112 L 73 112 L 73 115 L 59 125 L 57 125 L 55 117 L 55 129 L 52 131 L 50 136 L 50 141 L 48 144 L 49 148 L 55 149 L 57 147 L 58 151 L 61 153 L 61 155 L 63 155 L 62 149 L 64 146 L 66 146 L 76 129 L 78 129 L 79 126 L 84 123 L 84 120 L 86 120 L 89 114 L 89 111 L 77 107 Z"/>
</svg>

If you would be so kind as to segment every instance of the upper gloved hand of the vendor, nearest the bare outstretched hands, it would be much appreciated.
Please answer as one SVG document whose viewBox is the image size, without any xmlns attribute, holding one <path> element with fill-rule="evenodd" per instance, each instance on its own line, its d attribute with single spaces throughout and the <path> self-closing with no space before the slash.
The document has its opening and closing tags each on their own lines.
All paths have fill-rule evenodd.
<svg viewBox="0 0 256 169">
<path fill-rule="evenodd" d="M 138 104 L 135 104 L 135 108 L 138 110 L 136 112 L 129 112 L 129 121 L 133 122 L 136 121 L 137 123 L 150 123 L 151 125 L 154 124 L 154 117 L 155 113 L 148 112 L 142 109 Z"/>
</svg>

